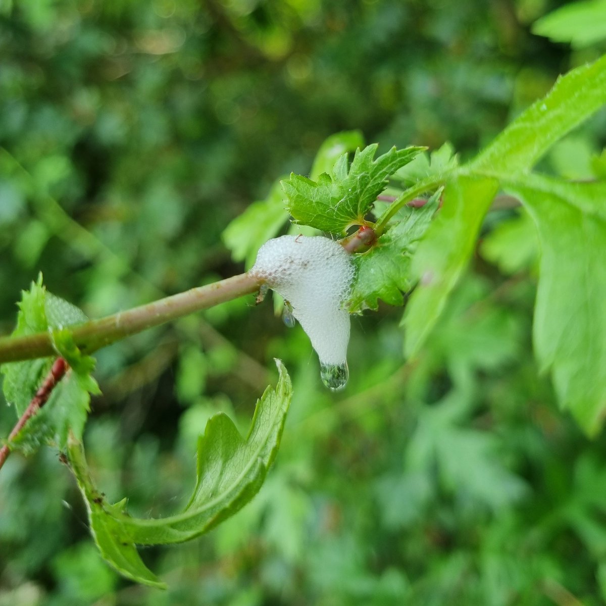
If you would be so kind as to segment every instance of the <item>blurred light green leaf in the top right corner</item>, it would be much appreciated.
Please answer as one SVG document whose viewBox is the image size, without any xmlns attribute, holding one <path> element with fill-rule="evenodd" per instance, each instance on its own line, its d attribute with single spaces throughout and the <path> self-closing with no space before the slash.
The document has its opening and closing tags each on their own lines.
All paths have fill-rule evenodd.
<svg viewBox="0 0 606 606">
<path fill-rule="evenodd" d="M 562 6 L 534 22 L 532 32 L 554 42 L 570 42 L 576 48 L 595 44 L 606 38 L 606 0 Z"/>
</svg>

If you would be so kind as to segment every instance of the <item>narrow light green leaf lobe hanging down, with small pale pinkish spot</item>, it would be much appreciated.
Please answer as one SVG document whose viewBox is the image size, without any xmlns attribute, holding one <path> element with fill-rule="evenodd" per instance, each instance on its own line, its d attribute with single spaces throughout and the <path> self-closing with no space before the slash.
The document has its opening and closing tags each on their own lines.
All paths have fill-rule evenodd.
<svg viewBox="0 0 606 606">
<path fill-rule="evenodd" d="M 482 219 L 498 189 L 488 178 L 457 176 L 444 190 L 444 205 L 413 258 L 420 284 L 404 314 L 405 348 L 413 355 L 441 314 L 473 251 Z"/>
</svg>

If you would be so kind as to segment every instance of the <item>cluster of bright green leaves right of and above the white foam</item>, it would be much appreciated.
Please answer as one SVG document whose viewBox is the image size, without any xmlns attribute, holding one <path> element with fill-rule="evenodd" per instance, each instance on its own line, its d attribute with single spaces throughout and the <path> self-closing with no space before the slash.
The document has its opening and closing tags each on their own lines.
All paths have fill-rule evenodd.
<svg viewBox="0 0 606 606">
<path fill-rule="evenodd" d="M 373 161 L 377 146 L 369 145 L 349 166 L 344 154 L 315 179 L 291 175 L 282 182 L 286 205 L 297 223 L 331 234 L 352 225 L 375 228 L 374 245 L 355 256 L 350 310 L 376 309 L 379 299 L 402 304 L 402 293 L 416 285 L 402 321 L 405 348 L 415 355 L 464 273 L 494 197 L 516 196 L 542 251 L 536 355 L 551 370 L 562 407 L 594 434 L 606 410 L 606 182 L 567 182 L 531 169 L 605 102 L 606 57 L 559 78 L 467 164 L 458 166 L 448 147 L 431 160 L 410 147 Z M 404 189 L 382 208 L 376 199 L 388 179 Z M 433 196 L 422 208 L 405 207 L 422 195 Z M 436 212 L 438 197 L 443 205 Z"/>
</svg>

